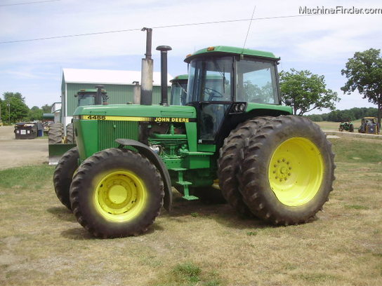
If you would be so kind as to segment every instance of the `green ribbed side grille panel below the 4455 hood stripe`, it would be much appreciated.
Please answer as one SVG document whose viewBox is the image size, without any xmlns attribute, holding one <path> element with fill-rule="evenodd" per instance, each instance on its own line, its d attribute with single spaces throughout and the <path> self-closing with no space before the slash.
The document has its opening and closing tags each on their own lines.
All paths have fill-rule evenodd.
<svg viewBox="0 0 382 286">
<path fill-rule="evenodd" d="M 118 138 L 138 140 L 138 122 L 98 121 L 98 150 L 118 147 Z"/>
</svg>

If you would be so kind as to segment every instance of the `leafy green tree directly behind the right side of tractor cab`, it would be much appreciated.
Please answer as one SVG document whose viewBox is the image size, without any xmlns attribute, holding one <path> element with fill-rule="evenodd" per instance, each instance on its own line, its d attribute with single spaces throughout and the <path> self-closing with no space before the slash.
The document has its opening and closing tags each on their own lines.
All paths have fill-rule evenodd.
<svg viewBox="0 0 382 286">
<path fill-rule="evenodd" d="M 296 115 L 301 116 L 313 109 L 334 110 L 335 102 L 340 101 L 336 92 L 327 89 L 324 76 L 296 69 L 281 71 L 279 76 L 282 102 L 290 98 Z"/>
</svg>

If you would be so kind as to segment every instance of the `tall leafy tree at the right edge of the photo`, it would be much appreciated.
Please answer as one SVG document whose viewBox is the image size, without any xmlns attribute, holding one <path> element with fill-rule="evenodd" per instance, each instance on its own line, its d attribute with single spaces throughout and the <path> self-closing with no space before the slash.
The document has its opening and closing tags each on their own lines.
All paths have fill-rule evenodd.
<svg viewBox="0 0 382 286">
<path fill-rule="evenodd" d="M 355 90 L 377 105 L 378 125 L 381 126 L 382 116 L 382 57 L 381 50 L 370 48 L 357 52 L 341 70 L 348 82 L 341 88 L 343 93 L 353 93 Z"/>
</svg>

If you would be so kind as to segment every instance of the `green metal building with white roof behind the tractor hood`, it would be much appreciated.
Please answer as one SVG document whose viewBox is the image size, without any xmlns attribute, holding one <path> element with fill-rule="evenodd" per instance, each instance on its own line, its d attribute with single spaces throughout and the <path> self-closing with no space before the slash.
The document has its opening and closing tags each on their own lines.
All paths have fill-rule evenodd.
<svg viewBox="0 0 382 286">
<path fill-rule="evenodd" d="M 173 77 L 167 74 L 171 81 Z M 74 97 L 80 89 L 94 88 L 97 85 L 105 86 L 110 104 L 126 104 L 133 102 L 133 81 L 140 82 L 140 71 L 115 71 L 107 69 L 62 69 L 61 84 L 61 122 L 66 126 L 72 120 L 78 99 Z M 154 71 L 152 104 L 159 104 L 161 97 L 161 74 Z M 171 86 L 171 83 L 168 83 Z M 169 88 L 170 92 L 170 88 Z"/>
</svg>

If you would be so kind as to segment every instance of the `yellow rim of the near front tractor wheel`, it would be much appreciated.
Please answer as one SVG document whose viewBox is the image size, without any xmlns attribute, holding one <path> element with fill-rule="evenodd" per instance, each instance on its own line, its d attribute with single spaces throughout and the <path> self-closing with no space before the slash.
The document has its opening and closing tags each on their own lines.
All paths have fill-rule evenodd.
<svg viewBox="0 0 382 286">
<path fill-rule="evenodd" d="M 101 175 L 95 187 L 94 202 L 98 212 L 113 222 L 126 222 L 143 210 L 147 190 L 140 177 L 117 170 Z"/>
</svg>

